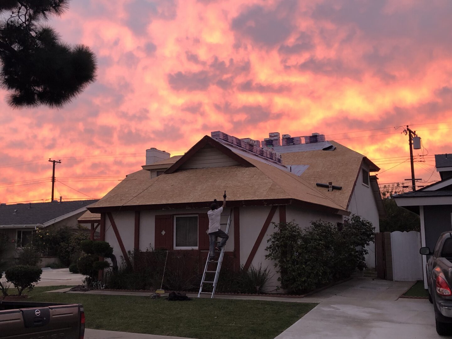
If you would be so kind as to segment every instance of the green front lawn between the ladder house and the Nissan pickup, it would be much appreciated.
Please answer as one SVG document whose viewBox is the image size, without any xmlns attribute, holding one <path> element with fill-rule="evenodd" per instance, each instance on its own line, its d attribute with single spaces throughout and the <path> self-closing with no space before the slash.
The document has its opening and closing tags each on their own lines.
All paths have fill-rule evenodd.
<svg viewBox="0 0 452 339">
<path fill-rule="evenodd" d="M 316 304 L 284 301 L 198 299 L 43 293 L 64 286 L 36 287 L 28 301 L 80 303 L 86 327 L 198 339 L 272 339 Z"/>
</svg>

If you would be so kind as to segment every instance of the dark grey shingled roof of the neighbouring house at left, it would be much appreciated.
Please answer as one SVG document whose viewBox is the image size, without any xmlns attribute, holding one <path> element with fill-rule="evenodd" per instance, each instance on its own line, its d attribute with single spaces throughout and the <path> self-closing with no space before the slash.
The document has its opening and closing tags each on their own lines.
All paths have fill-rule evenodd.
<svg viewBox="0 0 452 339">
<path fill-rule="evenodd" d="M 0 206 L 0 226 L 9 225 L 45 225 L 71 217 L 82 212 L 94 200 L 76 200 L 59 202 L 35 202 Z M 16 214 L 14 214 L 14 210 Z"/>
</svg>

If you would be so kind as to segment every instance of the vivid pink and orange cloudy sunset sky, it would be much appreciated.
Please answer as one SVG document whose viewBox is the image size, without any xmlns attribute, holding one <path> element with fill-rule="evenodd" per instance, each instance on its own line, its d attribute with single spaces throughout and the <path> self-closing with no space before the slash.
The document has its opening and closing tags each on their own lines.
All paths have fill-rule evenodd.
<svg viewBox="0 0 452 339">
<path fill-rule="evenodd" d="M 147 148 L 183 154 L 217 130 L 323 133 L 392 183 L 410 178 L 408 124 L 424 145 L 416 178 L 438 180 L 451 18 L 450 0 L 71 1 L 48 24 L 92 48 L 98 80 L 60 110 L 12 109 L 0 90 L 0 202 L 49 199 L 49 158 L 57 198 L 101 198 Z"/>
</svg>

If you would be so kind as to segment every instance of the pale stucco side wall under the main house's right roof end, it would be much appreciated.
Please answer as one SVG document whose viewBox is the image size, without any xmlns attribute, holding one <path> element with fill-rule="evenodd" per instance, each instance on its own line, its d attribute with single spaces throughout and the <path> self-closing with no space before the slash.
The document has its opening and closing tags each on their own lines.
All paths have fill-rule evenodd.
<svg viewBox="0 0 452 339">
<path fill-rule="evenodd" d="M 363 164 L 365 170 L 369 167 Z M 356 187 L 352 194 L 348 210 L 364 219 L 372 222 L 375 232 L 380 231 L 380 218 L 378 217 L 377 203 L 372 193 L 372 188 L 363 184 L 363 171 L 359 170 Z M 375 268 L 375 244 L 371 243 L 368 247 L 369 254 L 366 255 L 366 264 L 369 268 Z"/>
</svg>

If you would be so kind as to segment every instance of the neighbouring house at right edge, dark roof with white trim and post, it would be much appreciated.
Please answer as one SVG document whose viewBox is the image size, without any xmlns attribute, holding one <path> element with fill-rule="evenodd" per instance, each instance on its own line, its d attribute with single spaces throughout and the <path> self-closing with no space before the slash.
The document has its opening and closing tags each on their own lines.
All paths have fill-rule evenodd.
<svg viewBox="0 0 452 339">
<path fill-rule="evenodd" d="M 445 231 L 452 231 L 452 154 L 435 155 L 436 170 L 441 181 L 421 188 L 393 196 L 398 206 L 414 212 L 421 220 L 421 244 L 433 251 L 438 236 Z M 427 258 L 422 256 L 424 285 L 427 288 L 425 264 Z"/>
</svg>

